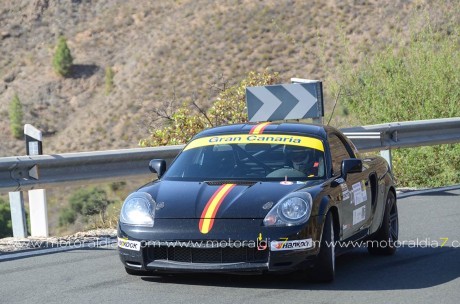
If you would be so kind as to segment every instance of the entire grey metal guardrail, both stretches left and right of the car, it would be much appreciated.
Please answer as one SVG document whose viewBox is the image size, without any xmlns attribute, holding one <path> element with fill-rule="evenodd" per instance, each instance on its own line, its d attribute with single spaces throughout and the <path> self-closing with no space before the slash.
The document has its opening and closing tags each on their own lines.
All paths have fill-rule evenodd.
<svg viewBox="0 0 460 304">
<path fill-rule="evenodd" d="M 460 117 L 342 129 L 360 151 L 460 142 Z M 364 135 L 364 136 L 363 136 Z M 149 176 L 153 158 L 171 162 L 183 145 L 0 158 L 0 191 L 22 191 Z M 37 169 L 37 170 L 35 170 Z M 38 173 L 38 179 L 33 178 Z"/>
</svg>

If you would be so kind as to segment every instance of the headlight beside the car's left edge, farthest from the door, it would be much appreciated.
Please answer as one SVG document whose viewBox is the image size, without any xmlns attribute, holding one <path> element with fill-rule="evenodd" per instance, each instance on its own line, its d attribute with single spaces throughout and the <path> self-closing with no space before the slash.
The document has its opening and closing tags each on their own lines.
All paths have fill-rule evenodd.
<svg viewBox="0 0 460 304">
<path fill-rule="evenodd" d="M 153 227 L 155 201 L 146 192 L 130 194 L 120 212 L 120 222 L 127 225 Z"/>
</svg>

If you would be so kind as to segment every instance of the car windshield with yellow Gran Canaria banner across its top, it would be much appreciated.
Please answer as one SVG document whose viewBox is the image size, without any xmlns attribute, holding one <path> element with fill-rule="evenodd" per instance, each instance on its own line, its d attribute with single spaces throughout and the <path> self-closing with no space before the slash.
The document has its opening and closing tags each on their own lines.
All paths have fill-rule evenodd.
<svg viewBox="0 0 460 304">
<path fill-rule="evenodd" d="M 314 137 L 232 134 L 191 141 L 167 180 L 306 181 L 325 177 L 324 145 Z"/>
</svg>

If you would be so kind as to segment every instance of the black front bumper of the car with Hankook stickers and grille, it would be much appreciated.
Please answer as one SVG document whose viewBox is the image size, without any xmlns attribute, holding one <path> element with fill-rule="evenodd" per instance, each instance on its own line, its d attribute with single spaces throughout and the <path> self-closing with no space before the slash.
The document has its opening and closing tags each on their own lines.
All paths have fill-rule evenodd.
<svg viewBox="0 0 460 304">
<path fill-rule="evenodd" d="M 310 218 L 303 227 L 261 227 L 260 221 L 232 220 L 231 226 L 239 227 L 238 231 L 227 225 L 226 231 L 208 239 L 196 232 L 182 232 L 180 238 L 174 229 L 161 229 L 161 224 L 155 229 L 119 225 L 119 256 L 127 268 L 159 273 L 290 272 L 314 263 L 321 238 L 317 220 Z M 178 227 L 169 221 L 170 227 Z M 196 224 L 195 220 L 176 221 L 182 227 Z M 225 226 L 224 221 L 221 224 Z"/>
</svg>

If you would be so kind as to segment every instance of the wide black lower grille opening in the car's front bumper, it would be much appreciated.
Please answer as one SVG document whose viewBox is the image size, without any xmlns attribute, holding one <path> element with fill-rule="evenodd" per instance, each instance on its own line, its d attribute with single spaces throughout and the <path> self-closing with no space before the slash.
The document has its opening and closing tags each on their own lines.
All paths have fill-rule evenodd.
<svg viewBox="0 0 460 304">
<path fill-rule="evenodd" d="M 268 250 L 257 248 L 186 248 L 149 247 L 147 257 L 150 261 L 168 260 L 185 263 L 236 263 L 268 261 Z"/>
</svg>

